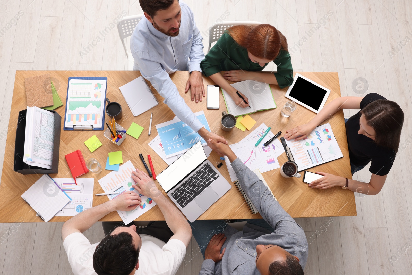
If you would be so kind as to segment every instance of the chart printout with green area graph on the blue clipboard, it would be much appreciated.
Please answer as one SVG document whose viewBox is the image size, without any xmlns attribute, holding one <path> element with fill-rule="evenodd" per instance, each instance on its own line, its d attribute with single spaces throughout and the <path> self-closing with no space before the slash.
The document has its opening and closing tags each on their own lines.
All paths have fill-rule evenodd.
<svg viewBox="0 0 412 275">
<path fill-rule="evenodd" d="M 106 80 L 70 79 L 66 106 L 65 127 L 94 125 L 102 127 L 105 106 Z"/>
</svg>

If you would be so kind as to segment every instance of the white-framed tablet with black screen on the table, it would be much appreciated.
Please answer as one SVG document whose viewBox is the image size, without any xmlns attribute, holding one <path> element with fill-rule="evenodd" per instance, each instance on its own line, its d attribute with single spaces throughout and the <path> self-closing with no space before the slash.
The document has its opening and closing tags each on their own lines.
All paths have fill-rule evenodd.
<svg viewBox="0 0 412 275">
<path fill-rule="evenodd" d="M 297 73 L 293 79 L 293 84 L 289 87 L 285 97 L 292 99 L 296 103 L 315 113 L 319 113 L 323 106 L 325 106 L 329 94 L 330 89 L 327 89 Z"/>
</svg>

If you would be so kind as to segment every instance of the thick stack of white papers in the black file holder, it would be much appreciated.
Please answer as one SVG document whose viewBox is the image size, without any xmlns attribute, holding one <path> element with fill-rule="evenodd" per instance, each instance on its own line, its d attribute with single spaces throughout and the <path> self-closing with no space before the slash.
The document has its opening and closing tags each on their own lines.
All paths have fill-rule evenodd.
<svg viewBox="0 0 412 275">
<path fill-rule="evenodd" d="M 54 113 L 27 107 L 23 161 L 28 165 L 52 169 Z"/>
</svg>

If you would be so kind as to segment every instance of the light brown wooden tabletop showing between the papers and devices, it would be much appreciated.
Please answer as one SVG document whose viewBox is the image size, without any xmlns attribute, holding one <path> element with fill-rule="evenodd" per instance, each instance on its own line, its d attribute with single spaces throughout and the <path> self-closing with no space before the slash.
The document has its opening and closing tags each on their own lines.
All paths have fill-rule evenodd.
<svg viewBox="0 0 412 275">
<path fill-rule="evenodd" d="M 128 108 L 119 87 L 130 82 L 131 80 L 140 76 L 139 71 L 16 71 L 16 80 L 14 83 L 14 92 L 12 99 L 12 108 L 10 111 L 9 132 L 7 134 L 7 142 L 4 156 L 3 172 L 0 184 L 0 223 L 9 222 L 40 222 L 40 218 L 35 216 L 34 210 L 21 199 L 21 195 L 42 175 L 22 175 L 13 171 L 14 160 L 14 143 L 16 137 L 16 123 L 17 116 L 20 110 L 26 109 L 26 90 L 24 86 L 24 78 L 50 74 L 52 81 L 54 81 L 56 89 L 62 99 L 66 102 L 67 83 L 70 76 L 106 76 L 108 78 L 107 96 L 110 101 L 117 101 L 123 107 L 123 118 L 119 122 L 124 128 L 128 128 L 131 122 L 145 127 L 143 133 L 138 139 L 128 136 L 121 146 L 117 146 L 103 136 L 103 131 L 63 131 L 61 130 L 60 141 L 60 157 L 59 157 L 59 173 L 51 175 L 52 177 L 71 177 L 67 162 L 64 155 L 80 149 L 85 159 L 90 157 L 96 158 L 104 167 L 108 152 L 122 150 L 123 162 L 131 160 L 136 168 L 144 170 L 143 164 L 140 161 L 138 154 L 142 153 L 144 156 L 150 154 L 152 156 L 155 171 L 159 174 L 167 167 L 167 164 L 150 148 L 147 144 L 155 136 L 157 136 L 156 124 L 171 120 L 174 117 L 173 112 L 163 103 L 163 98 L 157 94 L 156 90 L 152 88 L 155 96 L 159 100 L 159 105 L 152 108 L 138 117 L 133 117 Z M 331 92 L 327 103 L 340 96 L 339 80 L 337 73 L 300 73 L 311 80 L 328 87 Z M 195 103 L 190 99 L 190 93 L 185 94 L 184 89 L 186 81 L 189 77 L 187 71 L 177 71 L 170 75 L 173 82 L 178 87 L 178 90 L 185 99 L 186 103 L 192 108 L 193 112 L 204 110 L 208 124 L 213 132 L 224 136 L 229 144 L 239 142 L 247 134 L 241 130 L 234 128 L 231 132 L 224 132 L 220 129 L 220 118 L 222 111 L 226 110 L 223 97 L 220 96 L 220 109 L 208 110 L 206 109 L 206 100 Z M 210 78 L 204 78 L 204 85 L 214 85 L 215 83 Z M 309 122 L 314 118 L 315 113 L 297 106 L 297 109 L 290 118 L 283 118 L 280 115 L 281 107 L 288 99 L 284 97 L 287 89 L 279 89 L 277 85 L 271 85 L 276 105 L 278 108 L 274 110 L 265 110 L 252 114 L 252 118 L 256 120 L 258 125 L 265 122 L 266 125 L 272 127 L 272 132 L 282 131 L 285 133 L 287 129 L 292 129 L 297 125 Z M 66 104 L 56 109 L 62 117 L 62 128 L 65 114 Z M 150 113 L 153 111 L 152 133 L 148 133 L 148 126 L 150 120 Z M 106 116 L 107 117 L 107 116 Z M 106 121 L 108 118 L 106 118 Z M 333 127 L 333 132 L 339 143 L 339 147 L 344 155 L 343 158 L 335 160 L 316 168 L 308 169 L 308 171 L 323 171 L 331 174 L 337 174 L 351 179 L 351 169 L 349 164 L 348 146 L 346 143 L 346 132 L 344 126 L 343 111 L 338 111 L 327 122 Z M 326 123 L 326 122 L 325 122 Z M 251 130 L 255 129 L 252 128 Z M 84 141 L 96 134 L 98 139 L 103 143 L 103 146 L 98 148 L 93 153 L 84 145 Z M 23 144 L 21 144 L 23 146 Z M 212 152 L 208 158 L 213 164 L 220 162 L 219 155 Z M 278 157 L 282 164 L 287 161 L 285 154 Z M 224 165 L 219 169 L 220 173 L 230 181 L 229 173 Z M 103 193 L 98 179 L 108 174 L 110 171 L 103 169 L 100 174 L 88 173 L 82 177 L 94 177 L 94 193 Z M 303 175 L 303 172 L 300 174 Z M 281 206 L 292 217 L 315 217 L 315 216 L 356 216 L 356 205 L 354 193 L 350 190 L 343 190 L 339 187 L 330 188 L 326 190 L 308 188 L 306 183 L 302 183 L 301 178 L 283 178 L 279 169 L 263 173 L 263 176 L 276 198 L 279 200 Z M 159 184 L 157 183 L 159 186 Z M 229 190 L 220 200 L 215 202 L 199 219 L 259 219 L 260 214 L 250 214 L 246 204 L 243 202 L 237 189 L 232 184 L 232 189 Z M 160 188 L 160 186 L 159 186 Z M 107 201 L 106 196 L 94 196 L 93 205 L 96 206 Z M 54 217 L 51 221 L 67 221 L 70 217 Z M 117 212 L 112 212 L 103 217 L 101 221 L 120 221 Z M 138 220 L 164 220 L 162 212 L 156 206 L 150 211 L 139 217 Z"/>
</svg>

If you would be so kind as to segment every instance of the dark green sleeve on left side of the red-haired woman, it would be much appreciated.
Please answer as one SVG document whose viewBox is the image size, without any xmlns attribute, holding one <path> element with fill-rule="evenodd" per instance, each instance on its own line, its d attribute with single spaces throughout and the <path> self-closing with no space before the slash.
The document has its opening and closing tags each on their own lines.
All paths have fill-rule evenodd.
<svg viewBox="0 0 412 275">
<path fill-rule="evenodd" d="M 210 76 L 220 72 L 219 64 L 222 59 L 227 57 L 227 36 L 229 36 L 229 34 L 223 33 L 216 44 L 206 54 L 205 59 L 200 62 L 200 68 L 204 75 Z"/>
</svg>

